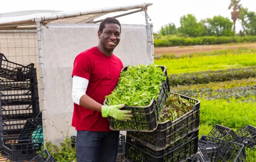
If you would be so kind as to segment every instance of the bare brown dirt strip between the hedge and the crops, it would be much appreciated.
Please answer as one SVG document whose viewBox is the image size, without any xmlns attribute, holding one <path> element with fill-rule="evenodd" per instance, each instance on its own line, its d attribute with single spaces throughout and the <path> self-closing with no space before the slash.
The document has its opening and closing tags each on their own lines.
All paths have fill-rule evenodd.
<svg viewBox="0 0 256 162">
<path fill-rule="evenodd" d="M 174 53 L 177 56 L 181 54 L 194 52 L 207 52 L 222 49 L 237 49 L 238 47 L 256 48 L 256 43 L 238 44 L 238 45 L 209 45 L 209 46 L 187 46 L 187 47 L 155 47 L 154 55 Z"/>
</svg>

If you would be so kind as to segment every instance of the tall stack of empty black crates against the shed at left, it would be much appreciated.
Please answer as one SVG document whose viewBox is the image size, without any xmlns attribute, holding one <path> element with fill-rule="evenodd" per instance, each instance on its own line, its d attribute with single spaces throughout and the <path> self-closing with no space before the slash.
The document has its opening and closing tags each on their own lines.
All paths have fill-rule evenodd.
<svg viewBox="0 0 256 162">
<path fill-rule="evenodd" d="M 30 160 L 42 145 L 42 142 L 31 140 L 35 130 L 31 126 L 42 120 L 34 64 L 23 66 L 8 61 L 0 53 L 0 81 L 2 155 L 11 161 Z"/>
</svg>

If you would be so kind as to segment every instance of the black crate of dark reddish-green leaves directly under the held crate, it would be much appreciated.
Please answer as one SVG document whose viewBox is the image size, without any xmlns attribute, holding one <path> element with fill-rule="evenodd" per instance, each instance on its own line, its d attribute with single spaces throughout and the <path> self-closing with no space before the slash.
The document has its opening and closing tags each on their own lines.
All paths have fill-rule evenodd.
<svg viewBox="0 0 256 162">
<path fill-rule="evenodd" d="M 199 129 L 200 101 L 170 92 L 159 124 L 153 132 L 127 131 L 132 137 L 150 148 L 159 150 Z"/>
</svg>

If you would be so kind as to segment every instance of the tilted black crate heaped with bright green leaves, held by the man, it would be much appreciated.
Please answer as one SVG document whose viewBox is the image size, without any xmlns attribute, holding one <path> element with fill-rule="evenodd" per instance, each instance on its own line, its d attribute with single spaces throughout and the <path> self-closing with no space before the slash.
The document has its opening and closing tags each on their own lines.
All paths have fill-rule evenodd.
<svg viewBox="0 0 256 162">
<path fill-rule="evenodd" d="M 155 64 L 125 67 L 114 91 L 106 96 L 104 105 L 125 104 L 121 110 L 132 111 L 132 119 L 109 117 L 110 129 L 154 131 L 170 92 L 165 66 Z"/>
</svg>

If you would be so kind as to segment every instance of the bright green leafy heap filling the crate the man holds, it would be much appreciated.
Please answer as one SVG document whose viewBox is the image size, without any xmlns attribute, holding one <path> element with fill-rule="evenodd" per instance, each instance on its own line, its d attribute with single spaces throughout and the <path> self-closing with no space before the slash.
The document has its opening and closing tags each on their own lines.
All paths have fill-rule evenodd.
<svg viewBox="0 0 256 162">
<path fill-rule="evenodd" d="M 107 105 L 125 104 L 126 106 L 147 106 L 157 99 L 162 81 L 166 75 L 155 64 L 128 66 L 120 73 L 118 86 L 108 96 Z"/>
</svg>

